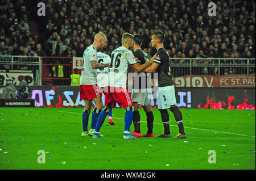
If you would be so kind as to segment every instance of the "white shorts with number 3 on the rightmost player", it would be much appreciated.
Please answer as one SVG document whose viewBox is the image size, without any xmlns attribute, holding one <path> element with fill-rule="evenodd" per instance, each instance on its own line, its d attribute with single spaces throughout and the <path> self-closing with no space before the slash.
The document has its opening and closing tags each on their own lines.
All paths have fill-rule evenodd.
<svg viewBox="0 0 256 181">
<path fill-rule="evenodd" d="M 172 105 L 177 106 L 174 85 L 158 87 L 158 109 L 168 109 Z"/>
</svg>

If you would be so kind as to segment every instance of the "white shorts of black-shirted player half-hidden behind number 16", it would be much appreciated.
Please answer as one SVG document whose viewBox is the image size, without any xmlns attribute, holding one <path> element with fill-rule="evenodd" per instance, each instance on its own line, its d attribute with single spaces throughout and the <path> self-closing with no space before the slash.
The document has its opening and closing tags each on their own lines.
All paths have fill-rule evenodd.
<svg viewBox="0 0 256 181">
<path fill-rule="evenodd" d="M 134 91 L 134 89 L 131 91 L 131 100 L 133 103 L 138 103 L 141 106 L 151 105 L 152 89 L 137 89 L 137 91 Z"/>
</svg>

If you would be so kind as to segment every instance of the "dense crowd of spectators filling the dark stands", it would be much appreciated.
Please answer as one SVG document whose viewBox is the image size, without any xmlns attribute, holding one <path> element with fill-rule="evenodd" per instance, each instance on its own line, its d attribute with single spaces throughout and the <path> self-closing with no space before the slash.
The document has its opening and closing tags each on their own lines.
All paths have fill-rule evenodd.
<svg viewBox="0 0 256 181">
<path fill-rule="evenodd" d="M 2 55 L 82 57 L 97 32 L 108 37 L 110 54 L 129 32 L 143 36 L 142 49 L 152 56 L 151 33 L 162 30 L 170 57 L 255 57 L 255 1 L 216 1 L 216 16 L 209 16 L 212 0 L 49 0 L 44 22 L 36 22 L 39 37 L 31 36 L 24 1 L 1 1 Z"/>
</svg>

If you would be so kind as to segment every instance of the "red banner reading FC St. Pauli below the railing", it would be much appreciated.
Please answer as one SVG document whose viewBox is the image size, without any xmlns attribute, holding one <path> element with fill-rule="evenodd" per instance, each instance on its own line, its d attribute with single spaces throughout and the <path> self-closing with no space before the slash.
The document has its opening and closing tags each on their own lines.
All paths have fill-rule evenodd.
<svg viewBox="0 0 256 181">
<path fill-rule="evenodd" d="M 255 75 L 186 75 L 174 82 L 176 87 L 255 87 Z"/>
</svg>

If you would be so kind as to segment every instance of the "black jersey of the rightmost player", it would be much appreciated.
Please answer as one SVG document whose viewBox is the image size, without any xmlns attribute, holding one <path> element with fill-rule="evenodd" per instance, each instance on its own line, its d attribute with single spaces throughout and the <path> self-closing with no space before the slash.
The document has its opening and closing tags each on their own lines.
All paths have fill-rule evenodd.
<svg viewBox="0 0 256 181">
<path fill-rule="evenodd" d="M 154 62 L 159 64 L 155 72 L 158 73 L 158 86 L 166 87 L 174 85 L 171 77 L 170 57 L 166 49 L 163 47 L 158 49 Z"/>
</svg>

